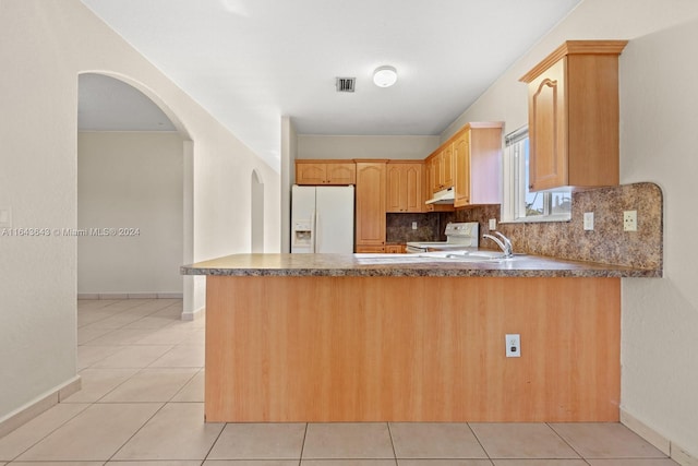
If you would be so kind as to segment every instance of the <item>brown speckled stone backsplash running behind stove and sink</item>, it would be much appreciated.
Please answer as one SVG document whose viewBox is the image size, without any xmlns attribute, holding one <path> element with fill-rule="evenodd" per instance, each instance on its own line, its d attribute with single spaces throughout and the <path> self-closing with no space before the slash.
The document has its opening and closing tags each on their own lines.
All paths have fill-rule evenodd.
<svg viewBox="0 0 698 466">
<path fill-rule="evenodd" d="M 624 211 L 637 211 L 637 231 L 623 230 Z M 585 212 L 594 214 L 593 231 L 583 229 Z M 442 241 L 448 222 L 478 222 L 482 235 L 490 231 L 490 218 L 496 218 L 497 229 L 512 239 L 515 252 L 662 268 L 663 196 L 650 182 L 575 191 L 570 222 L 500 224 L 498 204 L 438 214 L 388 214 L 387 240 Z M 411 222 L 418 222 L 418 230 L 411 230 Z M 482 248 L 495 247 L 480 242 Z"/>
</svg>

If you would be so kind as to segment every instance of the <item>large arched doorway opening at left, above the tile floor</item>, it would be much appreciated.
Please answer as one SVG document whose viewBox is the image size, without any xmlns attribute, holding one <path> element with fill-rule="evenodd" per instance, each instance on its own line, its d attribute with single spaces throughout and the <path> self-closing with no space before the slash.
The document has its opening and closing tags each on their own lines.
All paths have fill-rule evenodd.
<svg viewBox="0 0 698 466">
<path fill-rule="evenodd" d="M 79 229 L 132 234 L 79 238 L 79 296 L 183 295 L 185 318 L 194 287 L 179 265 L 193 262 L 193 144 L 182 124 L 140 83 L 85 72 L 79 76 L 77 156 Z M 142 277 L 134 276 L 131 256 L 143 261 Z"/>
</svg>

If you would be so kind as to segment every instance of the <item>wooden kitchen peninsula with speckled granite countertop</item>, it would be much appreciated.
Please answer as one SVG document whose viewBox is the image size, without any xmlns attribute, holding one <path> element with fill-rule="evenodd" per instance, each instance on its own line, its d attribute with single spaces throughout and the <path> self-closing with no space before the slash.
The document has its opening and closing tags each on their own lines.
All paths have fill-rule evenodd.
<svg viewBox="0 0 698 466">
<path fill-rule="evenodd" d="M 239 254 L 206 275 L 206 421 L 617 421 L 621 277 L 516 256 Z M 505 334 L 521 357 L 505 357 Z"/>
</svg>

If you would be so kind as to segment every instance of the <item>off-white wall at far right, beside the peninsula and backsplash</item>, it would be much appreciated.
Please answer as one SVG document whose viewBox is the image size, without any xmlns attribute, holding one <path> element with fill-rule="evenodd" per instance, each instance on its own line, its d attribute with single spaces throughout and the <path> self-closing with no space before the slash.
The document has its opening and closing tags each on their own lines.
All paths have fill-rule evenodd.
<svg viewBox="0 0 698 466">
<path fill-rule="evenodd" d="M 698 21 L 622 60 L 624 182 L 664 193 L 664 278 L 623 282 L 623 407 L 698 457 Z"/>
</svg>

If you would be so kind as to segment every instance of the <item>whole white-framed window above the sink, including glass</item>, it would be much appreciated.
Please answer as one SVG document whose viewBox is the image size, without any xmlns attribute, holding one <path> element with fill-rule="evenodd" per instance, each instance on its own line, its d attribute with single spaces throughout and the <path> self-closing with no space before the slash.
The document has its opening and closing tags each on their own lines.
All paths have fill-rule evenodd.
<svg viewBox="0 0 698 466">
<path fill-rule="evenodd" d="M 528 127 L 507 134 L 502 222 L 568 222 L 571 218 L 571 189 L 528 190 Z"/>
</svg>

